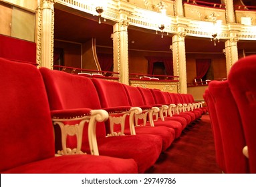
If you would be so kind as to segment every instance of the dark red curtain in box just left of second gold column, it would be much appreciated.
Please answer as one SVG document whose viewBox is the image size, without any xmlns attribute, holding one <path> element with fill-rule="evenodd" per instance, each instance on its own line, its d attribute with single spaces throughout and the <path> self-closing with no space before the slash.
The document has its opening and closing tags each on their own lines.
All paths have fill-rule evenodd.
<svg viewBox="0 0 256 187">
<path fill-rule="evenodd" d="M 102 71 L 112 71 L 114 64 L 113 54 L 98 53 L 97 56 Z"/>
</svg>

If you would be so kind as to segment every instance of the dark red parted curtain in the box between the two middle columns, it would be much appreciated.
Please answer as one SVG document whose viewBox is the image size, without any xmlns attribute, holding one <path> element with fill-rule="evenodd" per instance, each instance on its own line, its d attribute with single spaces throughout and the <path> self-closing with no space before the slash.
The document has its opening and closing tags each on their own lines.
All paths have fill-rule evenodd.
<svg viewBox="0 0 256 187">
<path fill-rule="evenodd" d="M 154 63 L 162 61 L 167 75 L 173 75 L 173 62 L 171 57 L 146 57 L 148 60 L 148 74 L 152 75 Z"/>
</svg>

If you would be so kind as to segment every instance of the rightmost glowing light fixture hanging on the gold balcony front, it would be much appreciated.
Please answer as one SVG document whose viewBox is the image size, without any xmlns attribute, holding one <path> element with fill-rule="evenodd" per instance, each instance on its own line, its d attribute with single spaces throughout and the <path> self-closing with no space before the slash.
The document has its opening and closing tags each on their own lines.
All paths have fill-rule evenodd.
<svg viewBox="0 0 256 187">
<path fill-rule="evenodd" d="M 221 23 L 222 20 L 217 20 L 217 16 L 215 15 L 215 13 L 211 13 L 211 15 L 209 15 L 209 17 L 206 17 L 207 21 L 212 21 L 213 22 L 213 33 L 212 33 L 212 37 L 211 37 L 211 41 L 214 41 L 214 45 L 216 45 L 216 41 L 219 42 L 219 35 L 221 33 Z"/>
</svg>

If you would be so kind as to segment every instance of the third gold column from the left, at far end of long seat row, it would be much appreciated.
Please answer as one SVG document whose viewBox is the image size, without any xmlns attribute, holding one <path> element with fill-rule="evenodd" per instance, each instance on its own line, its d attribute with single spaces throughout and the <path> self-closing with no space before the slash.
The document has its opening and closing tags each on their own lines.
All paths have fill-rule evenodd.
<svg viewBox="0 0 256 187">
<path fill-rule="evenodd" d="M 187 93 L 186 86 L 186 51 L 184 31 L 172 37 L 172 55 L 174 76 L 179 76 L 178 93 Z"/>
</svg>

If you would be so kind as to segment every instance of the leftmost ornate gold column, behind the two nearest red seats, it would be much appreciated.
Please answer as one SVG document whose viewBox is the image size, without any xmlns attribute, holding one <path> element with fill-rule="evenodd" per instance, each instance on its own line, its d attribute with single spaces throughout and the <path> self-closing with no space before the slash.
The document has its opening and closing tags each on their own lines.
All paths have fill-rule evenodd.
<svg viewBox="0 0 256 187">
<path fill-rule="evenodd" d="M 53 69 L 53 30 L 55 0 L 41 0 L 37 9 L 37 63 Z"/>
</svg>

